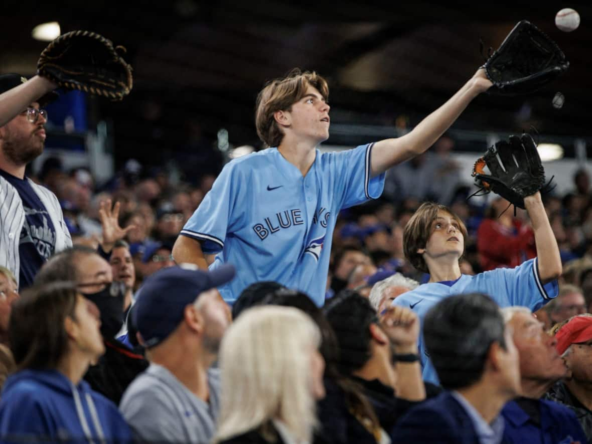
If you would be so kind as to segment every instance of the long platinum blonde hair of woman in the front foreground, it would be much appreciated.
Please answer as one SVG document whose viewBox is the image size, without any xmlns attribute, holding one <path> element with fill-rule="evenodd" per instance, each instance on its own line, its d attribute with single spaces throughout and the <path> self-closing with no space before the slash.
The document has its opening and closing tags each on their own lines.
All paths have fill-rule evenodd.
<svg viewBox="0 0 592 444">
<path fill-rule="evenodd" d="M 297 308 L 266 305 L 244 311 L 220 348 L 221 405 L 214 443 L 281 420 L 311 442 L 316 403 L 310 349 L 320 332 Z"/>
</svg>

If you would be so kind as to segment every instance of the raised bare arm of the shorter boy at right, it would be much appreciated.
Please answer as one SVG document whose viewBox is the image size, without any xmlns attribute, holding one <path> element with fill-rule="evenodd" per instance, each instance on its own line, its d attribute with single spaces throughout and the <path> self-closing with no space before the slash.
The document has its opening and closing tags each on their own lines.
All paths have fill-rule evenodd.
<svg viewBox="0 0 592 444">
<path fill-rule="evenodd" d="M 537 191 L 524 198 L 526 211 L 530 216 L 532 229 L 535 231 L 536 256 L 538 258 L 539 276 L 543 284 L 561 276 L 561 256 L 559 246 L 551 229 L 549 218 Z"/>
</svg>

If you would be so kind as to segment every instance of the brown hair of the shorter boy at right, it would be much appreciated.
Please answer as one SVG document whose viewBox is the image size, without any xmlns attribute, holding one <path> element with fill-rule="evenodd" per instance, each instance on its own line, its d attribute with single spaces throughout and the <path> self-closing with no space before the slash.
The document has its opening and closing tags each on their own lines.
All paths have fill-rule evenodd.
<svg viewBox="0 0 592 444">
<path fill-rule="evenodd" d="M 413 216 L 411 216 L 403 231 L 403 250 L 405 257 L 411 265 L 424 273 L 429 273 L 430 271 L 427 268 L 423 256 L 417 250 L 426 247 L 427 240 L 432 234 L 432 222 L 436 220 L 438 211 L 446 211 L 458 223 L 458 226 L 461 227 L 462 237 L 465 239 L 464 246 L 466 246 L 468 233 L 461 218 L 454 214 L 446 205 L 436 204 L 435 202 L 424 202 L 417 208 Z"/>
</svg>

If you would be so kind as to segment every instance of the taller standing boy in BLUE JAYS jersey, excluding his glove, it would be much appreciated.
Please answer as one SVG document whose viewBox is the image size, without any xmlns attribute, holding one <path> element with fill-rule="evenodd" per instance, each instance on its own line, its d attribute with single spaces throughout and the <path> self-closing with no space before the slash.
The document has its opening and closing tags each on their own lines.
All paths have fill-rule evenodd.
<svg viewBox="0 0 592 444">
<path fill-rule="evenodd" d="M 384 173 L 426 151 L 491 82 L 482 69 L 413 131 L 341 153 L 321 154 L 329 138 L 329 89 L 317 73 L 294 70 L 257 99 L 256 127 L 268 149 L 227 164 L 173 248 L 176 262 L 236 265 L 219 287 L 233 303 L 257 281 L 275 281 L 323 305 L 337 214 L 377 198 Z"/>
</svg>

